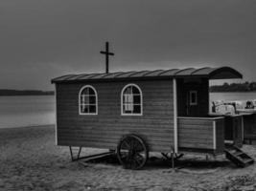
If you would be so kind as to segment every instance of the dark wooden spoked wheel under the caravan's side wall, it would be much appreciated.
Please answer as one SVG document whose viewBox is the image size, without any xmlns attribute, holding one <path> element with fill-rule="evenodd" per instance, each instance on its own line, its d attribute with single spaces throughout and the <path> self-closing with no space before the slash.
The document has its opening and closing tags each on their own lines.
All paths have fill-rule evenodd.
<svg viewBox="0 0 256 191">
<path fill-rule="evenodd" d="M 125 168 L 137 170 L 147 162 L 149 151 L 141 138 L 128 135 L 120 140 L 117 146 L 117 157 Z"/>
</svg>

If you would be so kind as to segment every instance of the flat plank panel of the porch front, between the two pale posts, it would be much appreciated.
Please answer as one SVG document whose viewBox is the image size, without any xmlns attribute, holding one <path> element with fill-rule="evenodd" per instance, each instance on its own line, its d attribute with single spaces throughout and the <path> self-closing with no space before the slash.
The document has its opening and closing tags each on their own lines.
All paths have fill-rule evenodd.
<svg viewBox="0 0 256 191">
<path fill-rule="evenodd" d="M 213 120 L 196 117 L 178 118 L 178 147 L 188 149 L 213 149 Z"/>
</svg>

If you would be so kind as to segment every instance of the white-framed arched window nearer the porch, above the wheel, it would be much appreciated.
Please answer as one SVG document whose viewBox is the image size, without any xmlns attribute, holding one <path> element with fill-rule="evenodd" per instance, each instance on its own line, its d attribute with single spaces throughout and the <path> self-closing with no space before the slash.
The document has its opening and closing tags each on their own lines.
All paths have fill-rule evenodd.
<svg viewBox="0 0 256 191">
<path fill-rule="evenodd" d="M 142 92 L 136 84 L 128 84 L 122 90 L 121 115 L 142 116 Z"/>
</svg>

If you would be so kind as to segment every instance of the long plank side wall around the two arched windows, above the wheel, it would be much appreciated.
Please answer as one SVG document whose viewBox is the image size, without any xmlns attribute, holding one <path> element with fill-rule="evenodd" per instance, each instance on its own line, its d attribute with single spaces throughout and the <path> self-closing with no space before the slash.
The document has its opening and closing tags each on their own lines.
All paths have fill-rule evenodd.
<svg viewBox="0 0 256 191">
<path fill-rule="evenodd" d="M 121 116 L 121 91 L 128 83 L 143 93 L 143 116 Z M 79 115 L 79 92 L 92 85 L 98 92 L 98 115 Z M 57 84 L 58 145 L 111 148 L 127 134 L 144 138 L 151 151 L 174 146 L 173 81 L 90 82 Z"/>
</svg>

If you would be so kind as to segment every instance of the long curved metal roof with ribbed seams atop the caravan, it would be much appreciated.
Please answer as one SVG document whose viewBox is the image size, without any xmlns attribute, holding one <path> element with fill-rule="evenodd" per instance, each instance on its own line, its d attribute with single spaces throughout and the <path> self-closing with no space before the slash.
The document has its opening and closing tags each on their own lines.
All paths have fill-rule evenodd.
<svg viewBox="0 0 256 191">
<path fill-rule="evenodd" d="M 243 78 L 235 69 L 230 67 L 221 68 L 187 68 L 139 72 L 117 72 L 109 74 L 67 74 L 52 79 L 52 83 L 76 82 L 87 80 L 121 80 L 121 79 L 150 79 L 150 78 L 173 78 L 173 77 L 207 77 L 209 79 Z"/>
</svg>

